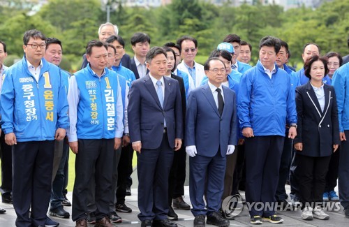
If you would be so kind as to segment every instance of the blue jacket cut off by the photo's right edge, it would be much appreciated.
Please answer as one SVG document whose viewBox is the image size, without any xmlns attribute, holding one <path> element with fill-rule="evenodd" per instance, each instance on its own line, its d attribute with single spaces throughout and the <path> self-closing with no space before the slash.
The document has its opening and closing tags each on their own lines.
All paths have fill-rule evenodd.
<svg viewBox="0 0 349 227">
<path fill-rule="evenodd" d="M 332 86 L 336 91 L 339 131 L 349 130 L 349 63 L 334 71 Z"/>
</svg>

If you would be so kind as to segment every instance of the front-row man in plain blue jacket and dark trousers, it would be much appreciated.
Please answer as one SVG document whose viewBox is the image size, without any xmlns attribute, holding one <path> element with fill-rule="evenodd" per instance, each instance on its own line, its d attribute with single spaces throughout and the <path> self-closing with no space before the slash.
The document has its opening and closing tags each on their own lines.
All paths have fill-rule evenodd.
<svg viewBox="0 0 349 227">
<path fill-rule="evenodd" d="M 246 202 L 263 206 L 251 207 L 251 224 L 283 222 L 267 205 L 274 202 L 279 180 L 285 125 L 290 126 L 288 138 L 295 138 L 297 112 L 290 76 L 275 64 L 280 48 L 279 38 L 262 38 L 260 60 L 242 76 L 237 98 L 237 115 L 245 137 Z"/>
</svg>

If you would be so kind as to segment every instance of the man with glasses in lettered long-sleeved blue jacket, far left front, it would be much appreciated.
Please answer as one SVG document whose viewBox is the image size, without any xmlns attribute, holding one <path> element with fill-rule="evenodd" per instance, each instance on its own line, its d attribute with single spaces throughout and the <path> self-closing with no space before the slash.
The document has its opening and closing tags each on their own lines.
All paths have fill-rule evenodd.
<svg viewBox="0 0 349 227">
<path fill-rule="evenodd" d="M 16 226 L 45 226 L 54 140 L 66 136 L 68 102 L 59 68 L 43 59 L 45 36 L 29 30 L 23 43 L 23 59 L 8 68 L 3 80 L 1 126 L 6 144 L 13 146 Z"/>
</svg>

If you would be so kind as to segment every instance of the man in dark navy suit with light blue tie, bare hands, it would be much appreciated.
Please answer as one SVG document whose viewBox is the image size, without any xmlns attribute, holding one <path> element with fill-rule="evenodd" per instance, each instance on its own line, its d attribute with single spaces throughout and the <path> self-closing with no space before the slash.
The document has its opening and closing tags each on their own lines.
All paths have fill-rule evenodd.
<svg viewBox="0 0 349 227">
<path fill-rule="evenodd" d="M 151 48 L 146 60 L 149 73 L 133 82 L 128 99 L 128 128 L 138 152 L 138 218 L 141 226 L 177 226 L 167 218 L 168 176 L 181 148 L 181 94 L 177 80 L 163 77 L 167 59 L 161 47 Z"/>
</svg>

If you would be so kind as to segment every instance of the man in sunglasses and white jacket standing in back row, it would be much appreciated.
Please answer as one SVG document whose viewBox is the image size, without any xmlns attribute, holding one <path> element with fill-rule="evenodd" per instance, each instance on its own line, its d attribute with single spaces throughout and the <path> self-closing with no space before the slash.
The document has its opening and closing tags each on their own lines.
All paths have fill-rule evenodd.
<svg viewBox="0 0 349 227">
<path fill-rule="evenodd" d="M 198 41 L 191 36 L 182 36 L 177 40 L 181 47 L 181 63 L 177 66 L 180 71 L 184 71 L 189 77 L 189 87 L 193 90 L 201 85 L 202 79 L 205 78 L 204 66 L 195 62 L 195 56 L 198 53 Z"/>
</svg>

